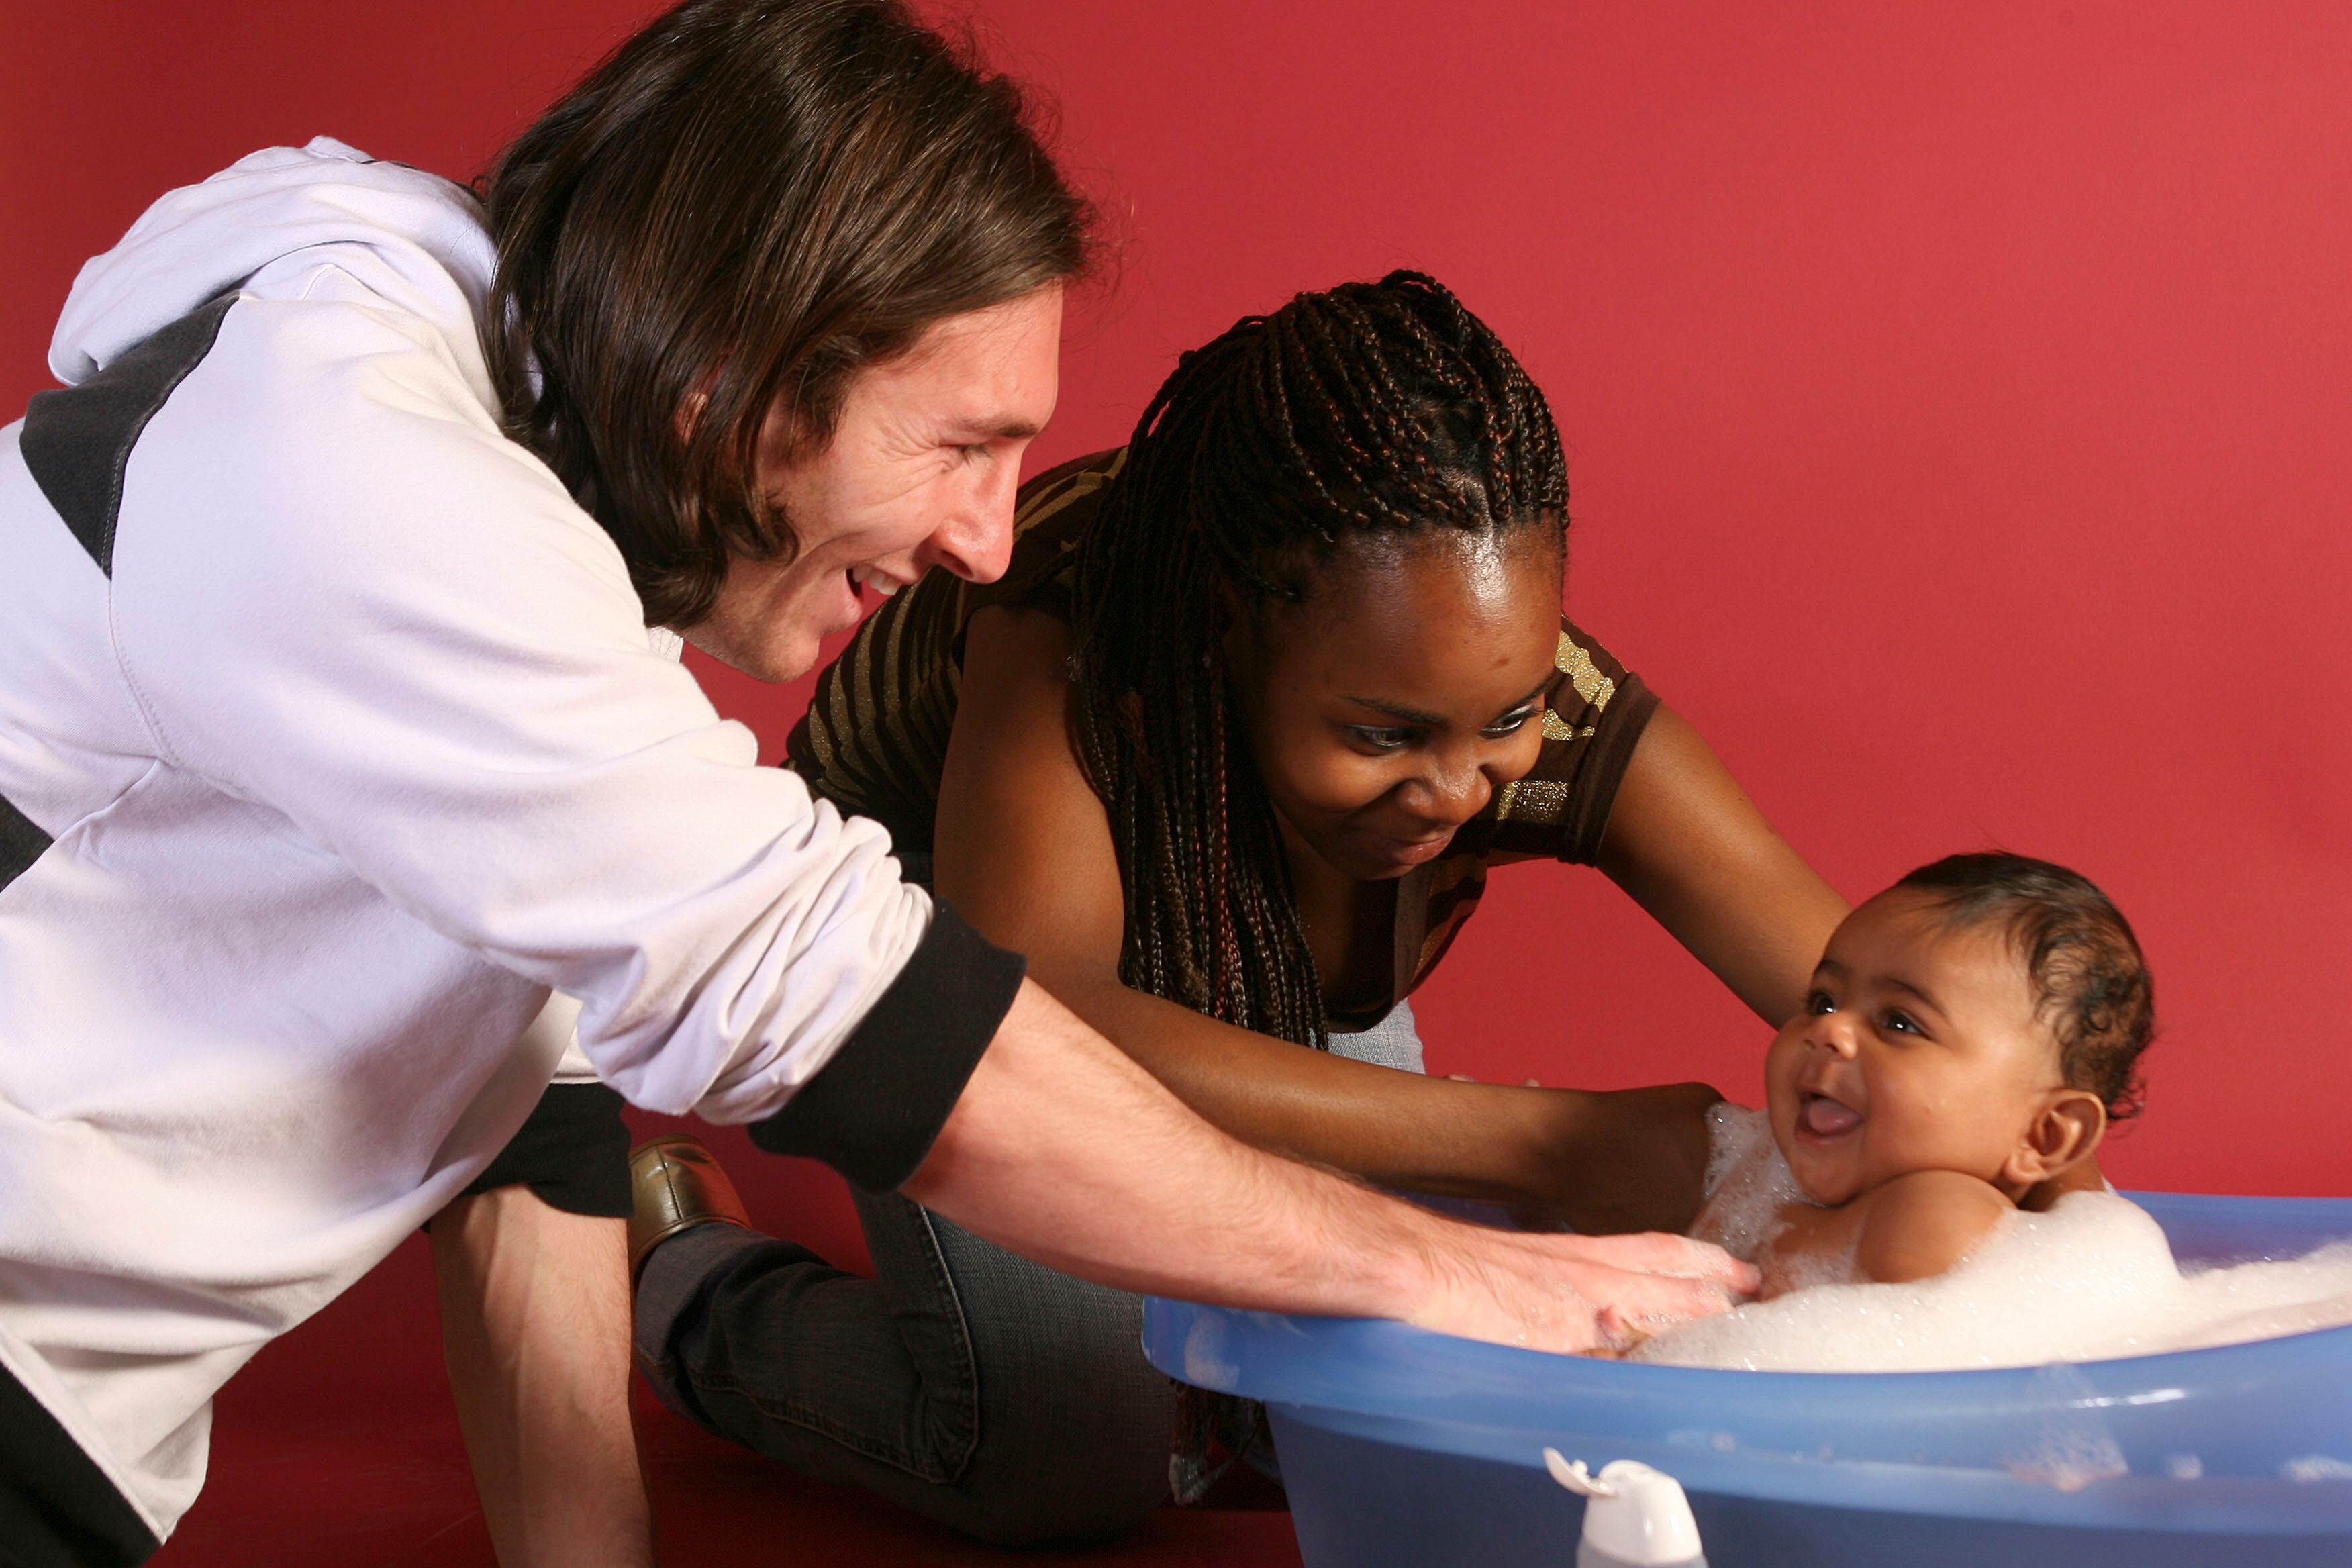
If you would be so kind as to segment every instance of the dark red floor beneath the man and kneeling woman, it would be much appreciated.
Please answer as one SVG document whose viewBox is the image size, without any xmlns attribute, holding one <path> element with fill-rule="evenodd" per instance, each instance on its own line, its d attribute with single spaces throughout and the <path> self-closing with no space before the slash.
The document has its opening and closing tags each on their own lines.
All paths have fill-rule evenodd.
<svg viewBox="0 0 2352 1568">
<path fill-rule="evenodd" d="M 795 1234 L 856 1262 L 833 1178 L 757 1157 L 717 1135 L 753 1213 L 786 1204 Z M 663 1410 L 640 1385 L 663 1561 L 997 1563 L 1042 1559 L 1157 1568 L 1218 1563 L 1296 1568 L 1289 1514 L 1162 1509 L 1115 1547 L 1016 1554 L 978 1547 L 861 1493 L 807 1481 Z M 221 1394 L 212 1479 L 155 1559 L 158 1568 L 492 1568 L 489 1535 L 440 1363 L 433 1269 L 402 1246 L 318 1319 L 268 1347 Z"/>
</svg>

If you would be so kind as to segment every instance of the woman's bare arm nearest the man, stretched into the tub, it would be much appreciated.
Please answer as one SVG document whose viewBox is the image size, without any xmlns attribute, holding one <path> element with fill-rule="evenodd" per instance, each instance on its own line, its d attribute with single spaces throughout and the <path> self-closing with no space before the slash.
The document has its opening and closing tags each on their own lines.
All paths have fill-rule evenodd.
<svg viewBox="0 0 2352 1568">
<path fill-rule="evenodd" d="M 1698 1208 L 1698 1086 L 1588 1095 L 1458 1084 L 1301 1051 L 1120 983 L 1127 907 L 1103 804 L 1070 750 L 1070 632 L 985 609 L 938 795 L 934 877 L 990 940 L 1183 1103 L 1244 1143 L 1416 1192 L 1548 1206 L 1578 1229 L 1679 1229 Z"/>
</svg>

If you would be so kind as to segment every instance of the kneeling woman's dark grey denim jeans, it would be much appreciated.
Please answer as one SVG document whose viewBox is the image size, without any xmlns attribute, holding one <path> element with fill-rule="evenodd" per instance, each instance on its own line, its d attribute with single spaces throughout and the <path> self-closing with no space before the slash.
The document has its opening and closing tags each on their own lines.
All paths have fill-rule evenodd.
<svg viewBox="0 0 2352 1568">
<path fill-rule="evenodd" d="M 1397 1006 L 1341 1056 L 1421 1072 Z M 1169 1493 L 1176 1387 L 1143 1298 L 1058 1274 L 901 1197 L 858 1194 L 875 1276 L 699 1225 L 637 1281 L 637 1359 L 687 1420 L 1000 1544 L 1105 1540 Z"/>
</svg>

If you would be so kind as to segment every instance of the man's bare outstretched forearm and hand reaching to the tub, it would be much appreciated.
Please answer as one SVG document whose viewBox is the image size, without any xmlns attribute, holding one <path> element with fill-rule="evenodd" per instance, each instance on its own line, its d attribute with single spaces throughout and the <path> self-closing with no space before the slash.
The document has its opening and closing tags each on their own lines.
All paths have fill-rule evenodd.
<svg viewBox="0 0 2352 1568">
<path fill-rule="evenodd" d="M 903 1190 L 1124 1291 L 1538 1349 L 1656 1333 L 1755 1288 L 1679 1237 L 1479 1229 L 1242 1145 L 1028 980 Z"/>
</svg>

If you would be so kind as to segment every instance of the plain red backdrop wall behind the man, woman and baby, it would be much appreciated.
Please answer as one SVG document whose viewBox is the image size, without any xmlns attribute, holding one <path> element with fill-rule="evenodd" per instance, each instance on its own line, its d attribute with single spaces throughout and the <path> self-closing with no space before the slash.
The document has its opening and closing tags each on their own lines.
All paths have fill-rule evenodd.
<svg viewBox="0 0 2352 1568">
<path fill-rule="evenodd" d="M 470 174 L 644 12 L 9 0 L 0 407 L 167 186 L 315 132 Z M 1040 461 L 1235 315 L 1437 273 L 1559 411 L 1571 609 L 1832 882 L 1997 842 L 2138 922 L 2166 1034 L 2112 1171 L 2352 1192 L 2352 9 L 974 21 L 1120 240 Z M 713 686 L 769 752 L 802 701 Z M 1757 1091 L 1764 1032 L 1588 872 L 1505 872 L 1421 1013 L 1442 1070 Z"/>
</svg>

